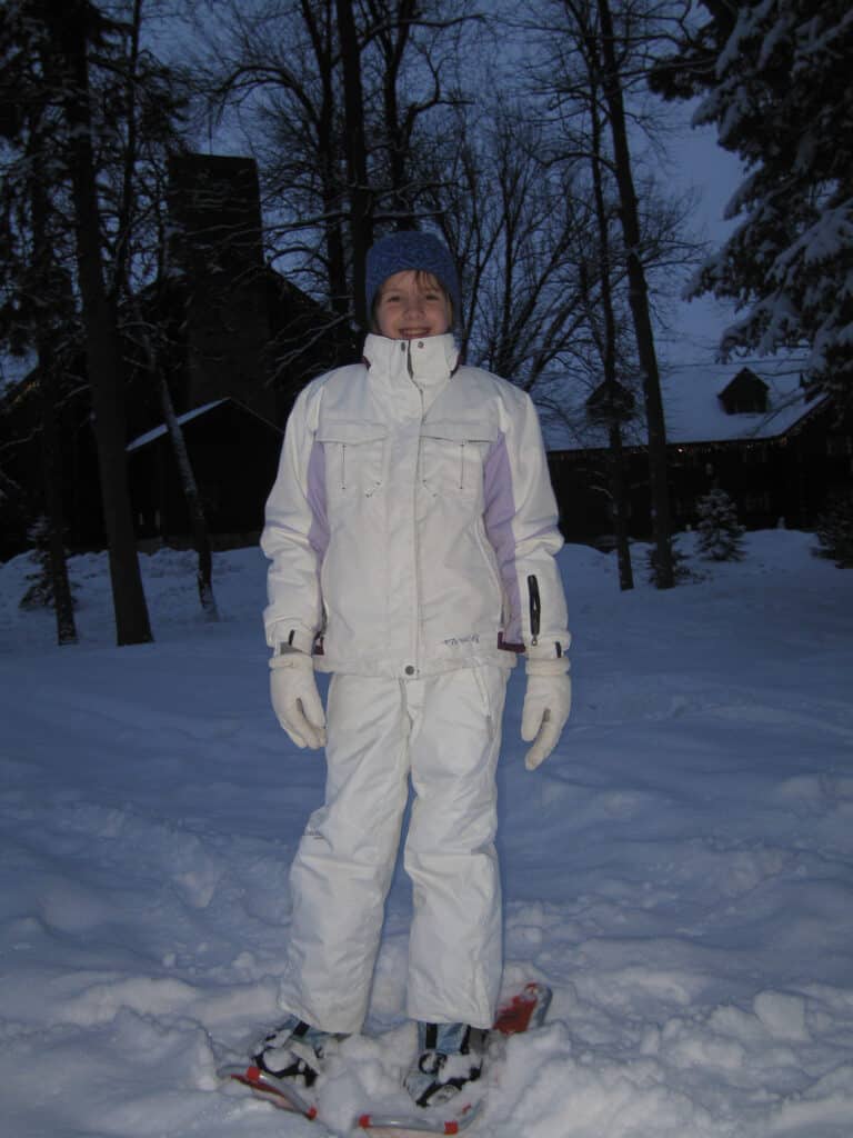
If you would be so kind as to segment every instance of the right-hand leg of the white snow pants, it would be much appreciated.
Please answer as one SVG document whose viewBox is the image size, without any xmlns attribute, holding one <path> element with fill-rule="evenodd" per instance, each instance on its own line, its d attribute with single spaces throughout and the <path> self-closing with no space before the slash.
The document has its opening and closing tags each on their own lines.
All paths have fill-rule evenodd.
<svg viewBox="0 0 853 1138">
<path fill-rule="evenodd" d="M 413 1020 L 490 1028 L 503 963 L 495 769 L 507 673 L 466 668 L 413 692 L 415 799 L 406 1006 Z M 446 687 L 446 692 L 444 688 Z"/>
</svg>

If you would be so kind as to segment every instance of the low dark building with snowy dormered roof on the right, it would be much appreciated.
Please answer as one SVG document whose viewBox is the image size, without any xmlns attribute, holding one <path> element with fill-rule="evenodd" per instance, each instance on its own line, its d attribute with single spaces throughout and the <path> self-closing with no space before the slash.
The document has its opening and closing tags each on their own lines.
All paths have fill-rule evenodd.
<svg viewBox="0 0 853 1138">
<path fill-rule="evenodd" d="M 853 424 L 812 397 L 796 363 L 672 369 L 663 402 L 673 531 L 695 525 L 696 502 L 719 487 L 748 529 L 809 529 L 829 496 L 853 486 Z M 545 436 L 561 525 L 569 541 L 613 537 L 603 394 L 570 393 L 546 413 Z M 639 393 L 620 398 L 632 537 L 651 536 L 648 457 Z"/>
</svg>

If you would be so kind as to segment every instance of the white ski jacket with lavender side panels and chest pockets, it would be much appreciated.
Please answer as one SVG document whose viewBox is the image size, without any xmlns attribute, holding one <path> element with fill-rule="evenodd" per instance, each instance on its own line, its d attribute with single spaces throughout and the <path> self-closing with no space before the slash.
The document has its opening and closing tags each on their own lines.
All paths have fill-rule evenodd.
<svg viewBox="0 0 853 1138">
<path fill-rule="evenodd" d="M 368 336 L 299 395 L 262 536 L 274 650 L 404 679 L 566 652 L 536 410 L 457 358 L 450 335 Z"/>
</svg>

